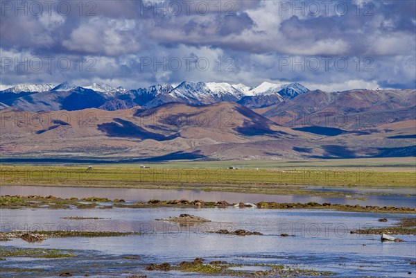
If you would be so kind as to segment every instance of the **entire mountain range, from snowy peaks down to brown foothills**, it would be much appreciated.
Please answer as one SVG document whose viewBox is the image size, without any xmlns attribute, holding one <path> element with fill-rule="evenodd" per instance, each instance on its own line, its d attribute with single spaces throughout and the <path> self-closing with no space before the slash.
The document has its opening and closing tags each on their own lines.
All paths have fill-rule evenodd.
<svg viewBox="0 0 416 278">
<path fill-rule="evenodd" d="M 0 92 L 0 151 L 3 161 L 414 157 L 415 112 L 415 89 L 26 85 Z"/>
</svg>

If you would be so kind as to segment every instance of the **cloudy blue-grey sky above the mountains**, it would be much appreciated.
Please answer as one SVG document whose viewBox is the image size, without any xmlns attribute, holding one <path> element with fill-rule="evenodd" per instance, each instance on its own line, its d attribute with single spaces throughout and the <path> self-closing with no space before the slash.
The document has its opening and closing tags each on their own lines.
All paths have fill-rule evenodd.
<svg viewBox="0 0 416 278">
<path fill-rule="evenodd" d="M 416 1 L 0 1 L 0 89 L 416 87 Z"/>
</svg>

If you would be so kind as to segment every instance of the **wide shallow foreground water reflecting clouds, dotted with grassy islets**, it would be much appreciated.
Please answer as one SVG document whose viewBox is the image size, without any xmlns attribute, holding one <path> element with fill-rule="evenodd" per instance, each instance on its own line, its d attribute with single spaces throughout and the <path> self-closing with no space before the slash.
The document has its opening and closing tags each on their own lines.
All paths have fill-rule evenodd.
<svg viewBox="0 0 416 278">
<path fill-rule="evenodd" d="M 212 220 L 202 225 L 178 226 L 156 218 L 194 214 Z M 65 220 L 66 216 L 99 217 L 98 220 Z M 42 243 L 21 239 L 2 247 L 44 247 L 72 250 L 65 259 L 12 259 L 2 268 L 33 268 L 18 277 L 56 277 L 69 271 L 73 277 L 207 277 L 183 272 L 150 272 L 150 263 L 172 264 L 202 257 L 256 268 L 257 263 L 292 265 L 336 272 L 334 277 L 415 277 L 416 237 L 399 236 L 403 243 L 381 243 L 379 235 L 350 234 L 360 227 L 393 225 L 403 214 L 351 213 L 330 210 L 272 209 L 2 209 L 1 230 L 88 229 L 138 231 L 140 236 L 113 238 L 48 238 Z M 380 223 L 379 218 L 388 218 Z M 409 217 L 409 216 L 408 216 Z M 246 229 L 263 236 L 207 234 L 208 230 Z M 287 233 L 294 236 L 281 237 Z M 125 259 L 135 255 L 137 260 Z M 248 266 L 246 266 L 248 265 Z M 411 275 L 408 272 L 412 272 Z M 78 276 L 77 276 L 78 275 Z M 2 277 L 17 277 L 3 273 Z"/>
</svg>

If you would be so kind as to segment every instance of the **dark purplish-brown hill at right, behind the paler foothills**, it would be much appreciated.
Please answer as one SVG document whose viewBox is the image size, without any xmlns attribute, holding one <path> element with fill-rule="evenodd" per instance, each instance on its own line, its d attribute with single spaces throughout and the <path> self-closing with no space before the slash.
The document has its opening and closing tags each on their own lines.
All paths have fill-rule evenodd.
<svg viewBox="0 0 416 278">
<path fill-rule="evenodd" d="M 331 93 L 315 90 L 255 111 L 288 127 L 315 125 L 361 130 L 413 119 L 415 105 L 415 89 L 354 89 Z"/>
</svg>

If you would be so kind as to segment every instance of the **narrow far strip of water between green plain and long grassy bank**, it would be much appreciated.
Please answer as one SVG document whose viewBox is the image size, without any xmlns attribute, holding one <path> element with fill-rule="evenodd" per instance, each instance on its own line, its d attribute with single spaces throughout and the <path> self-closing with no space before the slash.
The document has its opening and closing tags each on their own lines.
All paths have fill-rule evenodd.
<svg viewBox="0 0 416 278">
<path fill-rule="evenodd" d="M 307 190 L 329 191 L 327 188 L 308 187 Z M 226 200 L 227 202 L 331 202 L 340 205 L 371 205 L 371 206 L 393 206 L 393 207 L 416 207 L 416 189 L 395 188 L 395 189 L 361 189 L 335 188 L 333 191 L 343 191 L 348 198 L 324 198 L 316 196 L 297 195 L 273 195 L 257 193 L 235 193 L 219 191 L 198 191 L 198 190 L 176 190 L 176 189 L 123 189 L 123 188 L 87 188 L 68 186 L 0 186 L 0 195 L 40 195 L 56 196 L 60 198 L 85 198 L 101 197 L 116 199 L 121 198 L 127 201 L 147 202 L 150 199 L 175 200 L 185 198 L 187 200 L 205 200 L 216 202 Z M 371 193 L 372 195 L 363 195 Z M 395 193 L 397 195 L 383 195 L 383 193 Z M 379 195 L 378 195 L 379 194 Z M 410 196 L 405 196 L 410 194 Z M 358 200 L 356 198 L 366 198 Z"/>
</svg>

